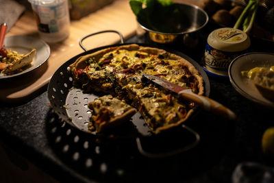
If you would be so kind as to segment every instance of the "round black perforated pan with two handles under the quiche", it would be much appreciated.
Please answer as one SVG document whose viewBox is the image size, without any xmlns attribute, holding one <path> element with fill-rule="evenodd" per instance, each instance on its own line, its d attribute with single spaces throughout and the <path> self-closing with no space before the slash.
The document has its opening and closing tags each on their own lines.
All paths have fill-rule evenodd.
<svg viewBox="0 0 274 183">
<path fill-rule="evenodd" d="M 115 32 L 115 31 L 105 31 L 105 32 Z M 95 33 L 95 34 L 99 34 L 99 33 Z M 90 35 L 94 35 L 94 34 L 90 34 Z M 84 38 L 82 38 L 82 40 L 84 40 Z M 82 45 L 82 40 L 80 40 L 79 44 L 85 50 L 84 46 Z M 121 37 L 121 42 L 123 42 L 123 37 Z M 132 44 L 132 43 L 128 43 L 128 44 Z M 112 132 L 112 134 L 96 134 L 95 132 L 90 132 L 90 130 L 88 130 L 88 123 L 90 121 L 90 117 L 92 114 L 92 111 L 88 108 L 88 103 L 105 94 L 96 93 L 96 92 L 83 93 L 83 91 L 80 88 L 75 88 L 73 86 L 73 75 L 71 71 L 69 70 L 69 65 L 73 64 L 73 62 L 75 62 L 75 60 L 77 60 L 77 58 L 79 58 L 80 56 L 94 53 L 95 51 L 99 51 L 101 49 L 105 49 L 108 47 L 116 47 L 121 45 L 127 45 L 127 44 L 122 43 L 122 44 L 109 45 L 104 47 L 98 47 L 96 49 L 91 49 L 91 50 L 85 51 L 84 53 L 80 53 L 77 56 L 74 56 L 73 58 L 71 58 L 64 64 L 62 64 L 62 66 L 60 66 L 60 68 L 57 71 L 55 71 L 55 73 L 51 77 L 51 81 L 49 82 L 49 86 L 47 90 L 49 101 L 51 103 L 53 110 L 59 115 L 60 118 L 62 118 L 62 120 L 66 121 L 66 123 L 69 123 L 73 127 L 76 127 L 77 129 L 82 130 L 83 132 L 88 132 L 90 133 L 90 135 L 94 135 L 98 137 L 116 136 L 118 138 L 135 138 L 138 150 L 144 156 L 153 157 L 153 158 L 171 156 L 174 154 L 178 154 L 182 151 L 191 149 L 192 147 L 195 147 L 195 145 L 197 145 L 197 143 L 199 142 L 199 134 L 197 134 L 197 132 L 195 132 L 194 130 L 190 129 L 190 127 L 187 127 L 186 125 L 182 125 L 182 127 L 180 127 L 180 130 L 179 130 L 180 132 L 177 132 L 177 133 L 180 133 L 180 134 L 185 133 L 186 136 L 189 137 L 189 138 L 185 138 L 186 136 L 182 137 L 184 138 L 184 141 L 189 140 L 189 143 L 186 143 L 184 147 L 179 147 L 177 149 L 173 149 L 171 151 L 165 151 L 161 153 L 146 151 L 142 147 L 143 145 L 143 143 L 141 143 L 142 139 L 148 139 L 147 137 L 151 138 L 152 136 L 153 136 L 153 139 L 157 139 L 158 135 L 151 133 L 151 131 L 149 130 L 149 127 L 147 127 L 144 119 L 142 119 L 139 112 L 132 117 L 132 120 L 129 121 L 129 123 L 119 127 L 119 129 Z M 138 44 L 138 45 L 145 46 L 145 47 L 150 46 L 146 44 Z M 197 62 L 189 58 L 188 56 L 184 55 L 183 53 L 180 53 L 174 50 L 167 50 L 167 49 L 166 51 L 182 56 L 183 58 L 191 62 L 197 68 L 197 70 L 199 71 L 199 73 L 201 74 L 204 80 L 205 95 L 209 96 L 210 83 L 206 73 L 203 71 L 203 69 L 201 69 L 201 66 Z M 164 136 L 169 136 L 169 134 L 174 134 L 174 133 L 173 132 L 166 133 L 164 134 Z M 142 138 L 142 137 L 146 137 L 146 138 Z M 159 137 L 159 139 L 160 138 L 162 137 Z"/>
</svg>

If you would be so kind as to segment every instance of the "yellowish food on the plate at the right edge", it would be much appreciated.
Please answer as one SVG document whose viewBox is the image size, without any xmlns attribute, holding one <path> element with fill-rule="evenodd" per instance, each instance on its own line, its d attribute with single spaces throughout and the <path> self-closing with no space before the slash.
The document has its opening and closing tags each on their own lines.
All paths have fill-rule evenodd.
<svg viewBox="0 0 274 183">
<path fill-rule="evenodd" d="M 252 80 L 262 96 L 274 101 L 274 66 L 270 68 L 254 67 L 249 71 L 243 71 L 242 75 Z"/>
</svg>

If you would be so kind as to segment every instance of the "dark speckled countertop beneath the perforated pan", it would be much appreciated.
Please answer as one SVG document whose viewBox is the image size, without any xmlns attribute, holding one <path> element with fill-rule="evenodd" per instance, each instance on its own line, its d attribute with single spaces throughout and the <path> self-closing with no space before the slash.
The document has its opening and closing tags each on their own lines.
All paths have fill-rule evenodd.
<svg viewBox="0 0 274 183">
<path fill-rule="evenodd" d="M 134 36 L 127 42 L 146 40 Z M 252 50 L 273 52 L 273 44 L 267 44 L 267 49 L 258 45 Z M 197 52 L 185 54 L 199 62 L 202 52 Z M 210 97 L 233 110 L 237 119 L 199 110 L 186 125 L 200 134 L 200 143 L 167 158 L 140 155 L 134 138 L 99 139 L 70 127 L 52 111 L 47 91 L 18 106 L 1 104 L 1 142 L 60 182 L 231 182 L 240 162 L 273 166 L 261 150 L 262 134 L 273 125 L 273 109 L 245 99 L 228 80 L 212 77 Z M 162 139 L 162 145 L 171 141 L 182 142 L 172 136 Z"/>
</svg>

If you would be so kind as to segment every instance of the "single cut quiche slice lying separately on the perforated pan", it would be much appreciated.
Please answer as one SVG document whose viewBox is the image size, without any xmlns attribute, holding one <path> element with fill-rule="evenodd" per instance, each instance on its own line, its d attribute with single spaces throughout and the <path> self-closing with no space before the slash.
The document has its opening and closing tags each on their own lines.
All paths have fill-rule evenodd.
<svg viewBox="0 0 274 183">
<path fill-rule="evenodd" d="M 102 132 L 117 125 L 129 121 L 137 112 L 135 108 L 129 106 L 124 100 L 104 95 L 88 103 L 88 108 L 92 110 L 92 117 L 89 129 L 95 132 Z"/>
</svg>

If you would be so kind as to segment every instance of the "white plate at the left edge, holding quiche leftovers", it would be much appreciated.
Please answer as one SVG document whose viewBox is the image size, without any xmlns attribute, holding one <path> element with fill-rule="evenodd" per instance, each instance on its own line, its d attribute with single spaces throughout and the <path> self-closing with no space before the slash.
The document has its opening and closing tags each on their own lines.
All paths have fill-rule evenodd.
<svg viewBox="0 0 274 183">
<path fill-rule="evenodd" d="M 29 71 L 37 69 L 47 61 L 51 52 L 49 45 L 47 45 L 46 42 L 32 36 L 5 36 L 3 46 L 6 49 L 12 49 L 18 53 L 24 54 L 29 53 L 29 51 L 32 51 L 32 49 L 36 49 L 36 56 L 32 61 L 32 66 L 29 66 L 27 69 L 20 73 L 14 73 L 11 75 L 4 75 L 3 73 L 0 73 L 0 79 L 23 75 Z"/>
</svg>

